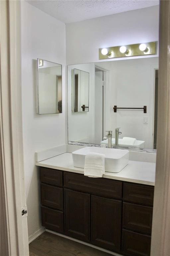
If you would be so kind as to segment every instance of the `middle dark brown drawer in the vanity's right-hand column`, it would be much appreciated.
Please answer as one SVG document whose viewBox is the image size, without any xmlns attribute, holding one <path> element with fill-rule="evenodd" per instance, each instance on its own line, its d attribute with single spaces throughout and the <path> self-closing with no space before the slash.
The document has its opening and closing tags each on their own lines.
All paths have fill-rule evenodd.
<svg viewBox="0 0 170 256">
<path fill-rule="evenodd" d="M 151 234 L 153 208 L 123 203 L 123 227 L 136 232 Z"/>
</svg>

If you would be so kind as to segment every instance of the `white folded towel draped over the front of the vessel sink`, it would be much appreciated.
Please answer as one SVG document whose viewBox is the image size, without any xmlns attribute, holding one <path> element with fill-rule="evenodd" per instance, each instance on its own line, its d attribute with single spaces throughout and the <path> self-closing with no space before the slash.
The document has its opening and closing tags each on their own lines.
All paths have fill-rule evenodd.
<svg viewBox="0 0 170 256">
<path fill-rule="evenodd" d="M 102 177 L 105 173 L 105 155 L 89 152 L 85 156 L 84 175 L 93 178 Z"/>
</svg>

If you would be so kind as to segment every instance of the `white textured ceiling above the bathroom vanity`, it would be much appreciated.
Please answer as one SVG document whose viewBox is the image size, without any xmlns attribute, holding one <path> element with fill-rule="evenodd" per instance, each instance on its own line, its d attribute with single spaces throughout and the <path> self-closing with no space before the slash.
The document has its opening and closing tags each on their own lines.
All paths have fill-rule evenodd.
<svg viewBox="0 0 170 256">
<path fill-rule="evenodd" d="M 158 0 L 27 0 L 64 22 L 71 23 L 158 5 Z"/>
</svg>

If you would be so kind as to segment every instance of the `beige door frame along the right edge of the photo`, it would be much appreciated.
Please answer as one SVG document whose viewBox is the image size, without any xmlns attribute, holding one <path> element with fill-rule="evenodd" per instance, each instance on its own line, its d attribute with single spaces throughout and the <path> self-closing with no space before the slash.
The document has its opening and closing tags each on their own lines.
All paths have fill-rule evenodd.
<svg viewBox="0 0 170 256">
<path fill-rule="evenodd" d="M 156 180 L 151 256 L 170 255 L 170 1 L 160 1 Z"/>
</svg>

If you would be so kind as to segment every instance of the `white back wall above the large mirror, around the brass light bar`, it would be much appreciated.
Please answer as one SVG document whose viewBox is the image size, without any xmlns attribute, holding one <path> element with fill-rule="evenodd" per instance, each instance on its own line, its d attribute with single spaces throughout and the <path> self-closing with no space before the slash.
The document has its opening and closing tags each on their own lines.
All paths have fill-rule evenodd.
<svg viewBox="0 0 170 256">
<path fill-rule="evenodd" d="M 66 24 L 66 64 L 99 61 L 99 48 L 158 41 L 159 6 Z"/>
</svg>

